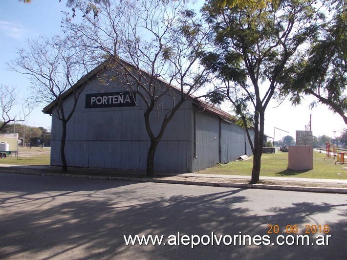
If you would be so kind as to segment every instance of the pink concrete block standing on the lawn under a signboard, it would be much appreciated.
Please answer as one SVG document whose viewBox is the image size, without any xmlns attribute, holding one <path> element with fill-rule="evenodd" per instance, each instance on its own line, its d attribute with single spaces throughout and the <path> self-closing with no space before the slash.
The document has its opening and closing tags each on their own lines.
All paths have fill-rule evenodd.
<svg viewBox="0 0 347 260">
<path fill-rule="evenodd" d="M 312 146 L 289 146 L 288 147 L 288 169 L 290 170 L 312 170 L 313 169 L 313 147 Z"/>
</svg>

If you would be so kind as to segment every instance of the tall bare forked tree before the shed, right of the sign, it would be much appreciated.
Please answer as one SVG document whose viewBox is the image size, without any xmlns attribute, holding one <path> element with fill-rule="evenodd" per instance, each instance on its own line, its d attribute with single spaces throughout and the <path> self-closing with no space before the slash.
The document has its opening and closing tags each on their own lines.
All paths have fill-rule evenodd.
<svg viewBox="0 0 347 260">
<path fill-rule="evenodd" d="M 198 63 L 199 54 L 208 45 L 207 33 L 184 2 L 100 1 L 95 17 L 85 12 L 87 1 L 77 6 L 85 12 L 84 22 L 75 24 L 69 17 L 65 22 L 66 30 L 74 32 L 80 44 L 97 49 L 100 61 L 107 60 L 105 64 L 114 75 L 110 80 L 120 82 L 145 103 L 144 123 L 150 139 L 148 176 L 153 176 L 154 154 L 168 123 L 207 81 L 206 70 Z M 156 120 L 159 130 L 154 130 L 152 114 L 161 109 L 167 96 L 173 102 Z"/>
</svg>

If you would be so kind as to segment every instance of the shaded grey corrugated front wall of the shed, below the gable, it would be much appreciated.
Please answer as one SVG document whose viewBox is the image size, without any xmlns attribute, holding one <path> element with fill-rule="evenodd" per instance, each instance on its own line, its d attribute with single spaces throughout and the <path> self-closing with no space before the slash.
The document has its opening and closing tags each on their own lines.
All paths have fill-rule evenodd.
<svg viewBox="0 0 347 260">
<path fill-rule="evenodd" d="M 119 86 L 108 90 L 124 91 Z M 65 156 L 68 166 L 108 169 L 145 170 L 150 139 L 145 129 L 145 104 L 137 97 L 138 107 L 85 108 L 85 95 L 100 92 L 100 86 L 89 84 L 81 94 L 74 115 L 67 123 Z M 179 92 L 171 92 L 178 99 Z M 65 99 L 71 107 L 72 96 Z M 164 96 L 154 108 L 151 121 L 154 134 L 174 99 Z M 169 123 L 155 155 L 156 171 L 191 171 L 192 103 L 185 102 Z M 61 165 L 61 122 L 52 116 L 51 164 Z"/>
</svg>

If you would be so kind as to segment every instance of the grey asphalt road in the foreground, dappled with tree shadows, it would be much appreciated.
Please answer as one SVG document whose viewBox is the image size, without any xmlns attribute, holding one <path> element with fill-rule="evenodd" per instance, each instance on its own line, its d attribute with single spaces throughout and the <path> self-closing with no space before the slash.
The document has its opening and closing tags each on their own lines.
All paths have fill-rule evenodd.
<svg viewBox="0 0 347 260">
<path fill-rule="evenodd" d="M 347 259 L 346 232 L 347 195 L 0 174 L 0 259 Z"/>
</svg>

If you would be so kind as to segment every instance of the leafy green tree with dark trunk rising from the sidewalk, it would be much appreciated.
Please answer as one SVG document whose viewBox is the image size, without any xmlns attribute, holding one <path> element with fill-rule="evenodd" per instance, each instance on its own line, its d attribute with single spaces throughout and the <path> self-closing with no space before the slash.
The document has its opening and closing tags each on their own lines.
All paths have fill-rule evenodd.
<svg viewBox="0 0 347 260">
<path fill-rule="evenodd" d="M 316 38 L 321 13 L 315 0 L 208 0 L 202 11 L 213 28 L 213 50 L 203 64 L 224 84 L 254 154 L 252 183 L 259 181 L 265 110 L 283 82 L 283 73 Z M 249 110 L 249 104 L 251 110 Z"/>
</svg>

